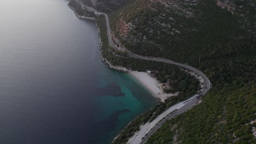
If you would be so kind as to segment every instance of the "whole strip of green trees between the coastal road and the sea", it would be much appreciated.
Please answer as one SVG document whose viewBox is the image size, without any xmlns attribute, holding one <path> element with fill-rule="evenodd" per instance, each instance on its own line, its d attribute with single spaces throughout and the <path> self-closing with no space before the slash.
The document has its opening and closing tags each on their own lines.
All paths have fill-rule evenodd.
<svg viewBox="0 0 256 144">
<path fill-rule="evenodd" d="M 146 123 L 148 121 L 153 121 L 160 113 L 166 110 L 168 107 L 183 101 L 191 95 L 197 93 L 199 89 L 199 81 L 197 81 L 193 76 L 190 76 L 187 72 L 179 69 L 178 67 L 166 64 L 162 62 L 145 61 L 142 59 L 129 58 L 126 57 L 125 52 L 115 51 L 108 44 L 107 38 L 107 27 L 105 23 L 104 16 L 97 18 L 97 25 L 100 29 L 100 37 L 102 41 L 102 56 L 106 58 L 113 65 L 123 65 L 132 70 L 146 71 L 146 70 L 158 70 L 161 71 L 157 76 L 160 80 L 169 79 L 171 86 L 173 85 L 172 91 L 181 91 L 177 97 L 171 97 L 165 101 L 165 103 L 160 103 L 153 109 L 143 113 L 134 119 L 127 127 L 121 131 L 120 136 L 115 139 L 113 143 L 125 143 L 128 138 L 131 137 L 137 130 L 139 130 L 139 125 Z M 174 86 L 173 83 L 176 83 Z"/>
</svg>

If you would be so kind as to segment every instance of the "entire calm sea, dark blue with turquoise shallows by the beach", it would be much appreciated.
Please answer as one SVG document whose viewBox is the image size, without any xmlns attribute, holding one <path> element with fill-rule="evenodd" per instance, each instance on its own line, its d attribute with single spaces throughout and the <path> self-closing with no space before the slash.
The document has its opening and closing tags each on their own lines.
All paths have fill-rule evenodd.
<svg viewBox="0 0 256 144">
<path fill-rule="evenodd" d="M 0 143 L 110 143 L 156 105 L 100 62 L 95 22 L 67 3 L 1 1 Z"/>
</svg>

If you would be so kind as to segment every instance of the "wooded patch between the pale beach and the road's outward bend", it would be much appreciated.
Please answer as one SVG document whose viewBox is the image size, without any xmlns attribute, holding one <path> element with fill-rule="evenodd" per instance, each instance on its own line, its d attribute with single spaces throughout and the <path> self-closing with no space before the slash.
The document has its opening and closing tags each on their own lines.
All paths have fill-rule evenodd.
<svg viewBox="0 0 256 144">
<path fill-rule="evenodd" d="M 97 25 L 101 29 L 102 56 L 110 63 L 113 65 L 121 65 L 131 70 L 158 70 L 160 73 L 156 74 L 157 79 L 164 83 L 169 80 L 171 89 L 168 89 L 168 91 L 170 92 L 181 91 L 184 93 L 196 93 L 196 91 L 199 90 L 199 81 L 175 65 L 130 58 L 126 57 L 126 52 L 115 51 L 108 44 L 107 28 L 104 21 L 104 16 L 98 17 Z"/>
</svg>

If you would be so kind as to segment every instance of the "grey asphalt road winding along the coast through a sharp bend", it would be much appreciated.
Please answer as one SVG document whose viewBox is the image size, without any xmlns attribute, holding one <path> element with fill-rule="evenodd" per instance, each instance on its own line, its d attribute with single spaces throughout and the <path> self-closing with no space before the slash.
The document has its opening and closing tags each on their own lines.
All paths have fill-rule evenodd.
<svg viewBox="0 0 256 144">
<path fill-rule="evenodd" d="M 117 49 L 117 47 L 114 45 L 113 43 L 113 40 L 112 40 L 112 35 L 111 35 L 111 29 L 110 29 L 110 25 L 109 25 L 109 19 L 108 19 L 108 15 L 106 13 L 102 13 L 100 11 L 97 11 L 95 10 L 94 8 L 90 8 L 86 5 L 84 5 L 82 2 L 79 2 L 79 0 L 75 0 L 77 1 L 78 3 L 81 4 L 81 7 L 83 9 L 86 9 L 88 11 L 94 11 L 95 14 L 98 14 L 98 15 L 104 15 L 105 16 L 105 19 L 106 19 L 106 26 L 107 26 L 107 34 L 108 34 L 108 42 L 109 42 L 109 45 L 111 47 L 113 47 L 113 49 L 119 51 L 119 49 Z M 136 55 L 132 52 L 128 52 L 127 54 L 129 57 L 133 57 L 133 58 L 139 58 L 139 59 L 145 59 L 145 60 L 148 60 L 148 61 L 156 61 L 156 62 L 164 62 L 164 63 L 169 63 L 169 64 L 174 64 L 174 65 L 178 65 L 179 67 L 182 67 L 182 68 L 185 68 L 185 69 L 188 69 L 190 71 L 194 71 L 194 73 L 198 74 L 201 76 L 202 80 L 203 80 L 203 85 L 204 87 L 202 88 L 202 91 L 201 93 L 199 94 L 199 97 L 202 97 L 203 95 L 205 95 L 209 90 L 210 88 L 212 87 L 212 84 L 211 84 L 211 81 L 208 79 L 208 77 L 203 74 L 200 70 L 197 70 L 196 68 L 193 68 L 193 67 L 190 67 L 189 65 L 186 65 L 186 64 L 182 64 L 182 63 L 177 63 L 177 62 L 173 62 L 173 61 L 170 61 L 168 59 L 163 59 L 163 58 L 154 58 L 154 57 L 144 57 L 144 56 L 139 56 L 139 55 Z M 190 98 L 188 100 L 185 100 L 183 101 L 182 103 L 184 104 L 182 107 L 180 107 L 179 109 L 176 109 L 176 111 L 172 112 L 172 113 L 169 113 L 166 117 L 164 117 L 163 119 L 161 119 L 161 121 L 159 121 L 158 123 L 156 123 L 154 125 L 154 127 L 152 129 L 150 129 L 148 131 L 147 134 L 145 134 L 142 139 L 140 139 L 139 141 L 136 141 L 136 142 L 132 142 L 132 143 L 140 143 L 140 144 L 143 144 L 145 143 L 148 138 L 158 129 L 161 127 L 162 124 L 164 124 L 168 119 L 171 119 L 171 118 L 174 118 L 178 115 L 180 115 L 181 113 L 183 113 L 184 111 L 190 109 L 191 107 L 193 107 L 195 104 L 197 104 L 197 102 L 199 101 L 198 98 L 195 99 L 195 98 Z M 167 110 L 166 110 L 167 111 Z"/>
</svg>

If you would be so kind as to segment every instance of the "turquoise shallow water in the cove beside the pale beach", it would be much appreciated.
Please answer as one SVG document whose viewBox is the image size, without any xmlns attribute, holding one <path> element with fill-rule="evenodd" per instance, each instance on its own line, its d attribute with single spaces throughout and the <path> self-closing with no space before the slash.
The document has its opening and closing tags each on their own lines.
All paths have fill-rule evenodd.
<svg viewBox="0 0 256 144">
<path fill-rule="evenodd" d="M 127 125 L 133 118 L 150 109 L 157 103 L 152 94 L 130 74 L 123 74 L 113 70 L 110 71 L 115 74 L 113 77 L 106 76 L 108 78 L 101 79 L 100 86 L 103 87 L 106 86 L 106 83 L 114 82 L 120 86 L 121 92 L 125 93 L 125 95 L 122 97 L 108 95 L 108 97 L 99 99 L 99 103 L 102 103 L 102 109 L 104 110 L 102 113 L 98 113 L 101 117 L 107 118 L 112 116 L 113 112 L 121 112 L 117 118 L 115 128 L 113 130 L 110 128 L 109 136 L 104 136 L 105 140 L 112 137 L 111 135 L 116 135 L 124 128 L 124 125 Z M 106 103 L 108 105 L 106 105 Z M 112 126 L 113 125 L 110 125 L 110 127 Z M 105 141 L 104 139 L 103 141 Z"/>
</svg>

